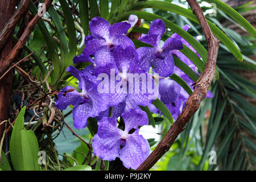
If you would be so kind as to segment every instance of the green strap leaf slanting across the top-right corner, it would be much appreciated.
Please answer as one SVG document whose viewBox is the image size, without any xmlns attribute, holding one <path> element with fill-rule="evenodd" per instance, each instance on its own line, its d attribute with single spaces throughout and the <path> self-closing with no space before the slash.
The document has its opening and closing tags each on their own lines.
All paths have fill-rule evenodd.
<svg viewBox="0 0 256 182">
<path fill-rule="evenodd" d="M 256 30 L 255 28 L 247 22 L 245 18 L 243 18 L 242 15 L 240 15 L 236 10 L 234 10 L 232 7 L 226 5 L 224 2 L 221 2 L 219 0 L 204 0 L 209 3 L 215 3 L 217 8 L 223 11 L 225 14 L 229 15 L 232 19 L 236 20 L 237 23 L 241 24 L 245 30 L 247 30 L 254 38 L 256 38 Z"/>
</svg>

